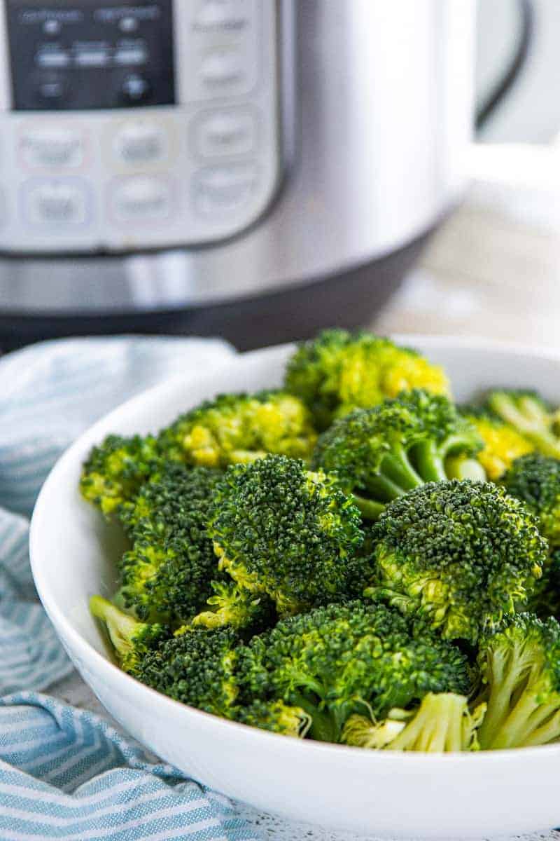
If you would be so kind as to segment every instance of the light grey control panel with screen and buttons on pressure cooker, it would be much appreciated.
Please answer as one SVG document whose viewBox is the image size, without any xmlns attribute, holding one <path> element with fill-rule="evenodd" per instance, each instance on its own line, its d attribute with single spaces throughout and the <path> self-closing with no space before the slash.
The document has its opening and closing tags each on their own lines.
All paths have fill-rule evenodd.
<svg viewBox="0 0 560 841">
<path fill-rule="evenodd" d="M 279 2 L 3 0 L 0 251 L 196 246 L 257 221 L 281 169 Z"/>
</svg>

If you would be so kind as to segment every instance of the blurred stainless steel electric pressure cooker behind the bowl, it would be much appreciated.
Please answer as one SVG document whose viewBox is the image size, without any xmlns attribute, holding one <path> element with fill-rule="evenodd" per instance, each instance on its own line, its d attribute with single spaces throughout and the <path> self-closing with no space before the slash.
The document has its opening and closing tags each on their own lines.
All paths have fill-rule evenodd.
<svg viewBox="0 0 560 841">
<path fill-rule="evenodd" d="M 461 196 L 473 0 L 3 0 L 0 345 L 359 325 Z"/>
</svg>

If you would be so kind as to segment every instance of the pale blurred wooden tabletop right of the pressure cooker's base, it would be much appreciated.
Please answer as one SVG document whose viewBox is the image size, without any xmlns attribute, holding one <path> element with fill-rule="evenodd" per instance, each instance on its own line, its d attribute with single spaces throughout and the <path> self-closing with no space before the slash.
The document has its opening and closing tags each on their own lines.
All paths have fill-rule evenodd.
<svg viewBox="0 0 560 841">
<path fill-rule="evenodd" d="M 560 346 L 559 322 L 560 230 L 467 199 L 373 326 Z"/>
</svg>

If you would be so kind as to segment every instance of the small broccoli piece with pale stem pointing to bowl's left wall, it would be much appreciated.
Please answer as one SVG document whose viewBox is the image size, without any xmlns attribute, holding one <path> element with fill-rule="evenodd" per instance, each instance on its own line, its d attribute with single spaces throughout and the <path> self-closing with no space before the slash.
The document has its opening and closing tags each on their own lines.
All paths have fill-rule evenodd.
<svg viewBox="0 0 560 841">
<path fill-rule="evenodd" d="M 169 637 L 169 631 L 163 625 L 141 622 L 120 611 L 101 595 L 92 596 L 90 611 L 107 628 L 121 668 L 135 677 L 139 676 L 141 663 L 149 651 L 158 648 Z"/>
</svg>

